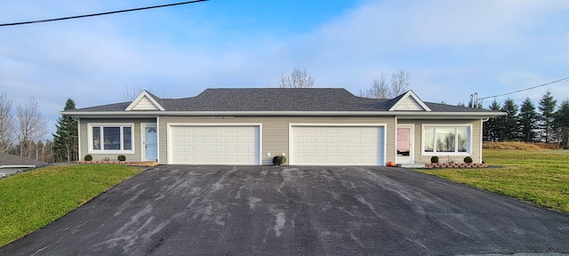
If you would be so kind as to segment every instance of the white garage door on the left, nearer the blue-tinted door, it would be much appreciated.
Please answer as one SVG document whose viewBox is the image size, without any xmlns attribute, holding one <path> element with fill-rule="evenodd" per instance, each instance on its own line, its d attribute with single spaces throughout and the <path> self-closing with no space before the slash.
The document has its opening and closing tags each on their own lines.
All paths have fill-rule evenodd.
<svg viewBox="0 0 569 256">
<path fill-rule="evenodd" d="M 260 126 L 171 125 L 170 164 L 260 164 Z"/>
</svg>

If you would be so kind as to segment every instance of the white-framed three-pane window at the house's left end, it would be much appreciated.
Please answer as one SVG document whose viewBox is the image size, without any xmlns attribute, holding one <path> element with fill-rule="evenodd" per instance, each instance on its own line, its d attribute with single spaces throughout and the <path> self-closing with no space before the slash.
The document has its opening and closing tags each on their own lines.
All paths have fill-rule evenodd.
<svg viewBox="0 0 569 256">
<path fill-rule="evenodd" d="M 132 152 L 132 124 L 89 124 L 89 151 Z"/>
</svg>

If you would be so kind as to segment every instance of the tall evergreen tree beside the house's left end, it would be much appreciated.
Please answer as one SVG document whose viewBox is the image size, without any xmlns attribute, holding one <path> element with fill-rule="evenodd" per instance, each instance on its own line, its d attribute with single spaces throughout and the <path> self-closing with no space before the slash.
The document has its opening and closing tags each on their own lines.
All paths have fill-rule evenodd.
<svg viewBox="0 0 569 256">
<path fill-rule="evenodd" d="M 75 108 L 75 102 L 68 99 L 64 110 Z M 53 155 L 55 162 L 78 160 L 77 121 L 71 116 L 60 116 L 55 125 L 57 131 L 53 135 Z"/>
</svg>

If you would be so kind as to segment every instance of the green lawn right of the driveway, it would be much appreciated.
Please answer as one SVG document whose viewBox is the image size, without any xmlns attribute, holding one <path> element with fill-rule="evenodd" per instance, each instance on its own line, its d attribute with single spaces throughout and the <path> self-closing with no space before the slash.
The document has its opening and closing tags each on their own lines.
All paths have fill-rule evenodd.
<svg viewBox="0 0 569 256">
<path fill-rule="evenodd" d="M 483 157 L 502 167 L 421 172 L 569 213 L 569 151 L 485 149 Z"/>
</svg>

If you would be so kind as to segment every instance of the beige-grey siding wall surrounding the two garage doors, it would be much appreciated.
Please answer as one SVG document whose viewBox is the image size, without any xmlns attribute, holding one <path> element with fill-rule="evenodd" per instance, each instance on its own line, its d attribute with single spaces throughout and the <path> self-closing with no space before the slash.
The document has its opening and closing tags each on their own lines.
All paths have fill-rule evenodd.
<svg viewBox="0 0 569 256">
<path fill-rule="evenodd" d="M 235 116 L 158 118 L 158 163 L 168 163 L 168 124 L 261 124 L 261 164 L 272 164 L 272 157 L 290 156 L 289 124 L 386 124 L 386 162 L 395 160 L 395 118 L 374 116 Z M 270 156 L 267 156 L 270 153 Z"/>
</svg>

